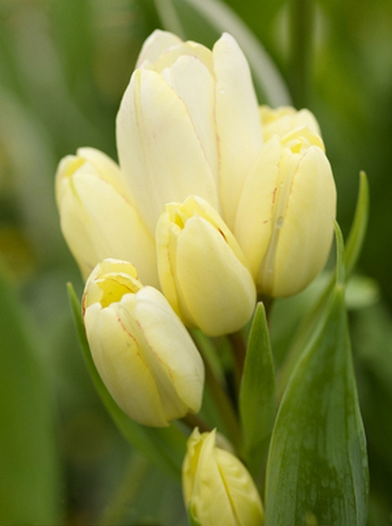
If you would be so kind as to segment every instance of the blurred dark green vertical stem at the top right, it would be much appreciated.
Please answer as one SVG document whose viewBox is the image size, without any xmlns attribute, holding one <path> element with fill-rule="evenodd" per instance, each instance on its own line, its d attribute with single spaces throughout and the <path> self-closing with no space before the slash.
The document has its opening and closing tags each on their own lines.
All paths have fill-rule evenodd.
<svg viewBox="0 0 392 526">
<path fill-rule="evenodd" d="M 313 0 L 291 0 L 289 84 L 297 108 L 308 105 L 313 58 Z"/>
</svg>

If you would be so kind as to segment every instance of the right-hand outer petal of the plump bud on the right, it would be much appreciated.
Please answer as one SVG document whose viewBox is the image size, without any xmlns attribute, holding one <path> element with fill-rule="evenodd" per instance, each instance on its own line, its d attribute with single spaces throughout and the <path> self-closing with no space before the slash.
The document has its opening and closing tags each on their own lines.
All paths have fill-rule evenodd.
<svg viewBox="0 0 392 526">
<path fill-rule="evenodd" d="M 269 294 L 293 295 L 326 264 L 333 237 L 336 188 L 326 155 L 312 146 L 294 176 L 275 253 L 275 279 Z M 301 233 L 301 241 L 295 242 Z"/>
</svg>

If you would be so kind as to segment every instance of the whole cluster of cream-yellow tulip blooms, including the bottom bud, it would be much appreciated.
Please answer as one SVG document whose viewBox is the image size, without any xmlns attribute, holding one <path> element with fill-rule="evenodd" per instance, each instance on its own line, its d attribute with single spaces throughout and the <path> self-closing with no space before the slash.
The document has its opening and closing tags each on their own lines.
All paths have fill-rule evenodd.
<svg viewBox="0 0 392 526">
<path fill-rule="evenodd" d="M 117 150 L 119 164 L 93 148 L 60 162 L 60 223 L 104 384 L 134 421 L 164 427 L 201 408 L 188 329 L 232 334 L 258 295 L 308 286 L 328 258 L 336 190 L 313 114 L 259 107 L 228 34 L 212 51 L 168 32 L 146 40 Z M 262 524 L 252 477 L 215 431 L 191 434 L 183 486 L 195 524 Z"/>
</svg>

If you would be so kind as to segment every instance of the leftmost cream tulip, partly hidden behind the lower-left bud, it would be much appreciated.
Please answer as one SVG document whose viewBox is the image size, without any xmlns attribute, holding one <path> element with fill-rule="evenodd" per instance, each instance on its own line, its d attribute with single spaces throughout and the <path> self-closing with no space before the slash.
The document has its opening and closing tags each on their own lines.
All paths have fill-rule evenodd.
<svg viewBox="0 0 392 526">
<path fill-rule="evenodd" d="M 132 261 L 158 286 L 154 236 L 138 214 L 119 166 L 93 148 L 67 155 L 56 175 L 62 234 L 84 279 L 108 257 Z"/>
</svg>

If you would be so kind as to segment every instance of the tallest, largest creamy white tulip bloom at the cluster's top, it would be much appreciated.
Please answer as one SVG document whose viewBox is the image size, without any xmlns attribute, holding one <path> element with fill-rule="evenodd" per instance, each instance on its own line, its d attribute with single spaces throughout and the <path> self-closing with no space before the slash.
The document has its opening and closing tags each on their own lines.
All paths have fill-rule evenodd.
<svg viewBox="0 0 392 526">
<path fill-rule="evenodd" d="M 147 38 L 117 116 L 121 169 L 154 233 L 167 203 L 206 199 L 229 227 L 262 145 L 247 60 L 228 34 L 212 51 L 156 31 Z"/>
</svg>

